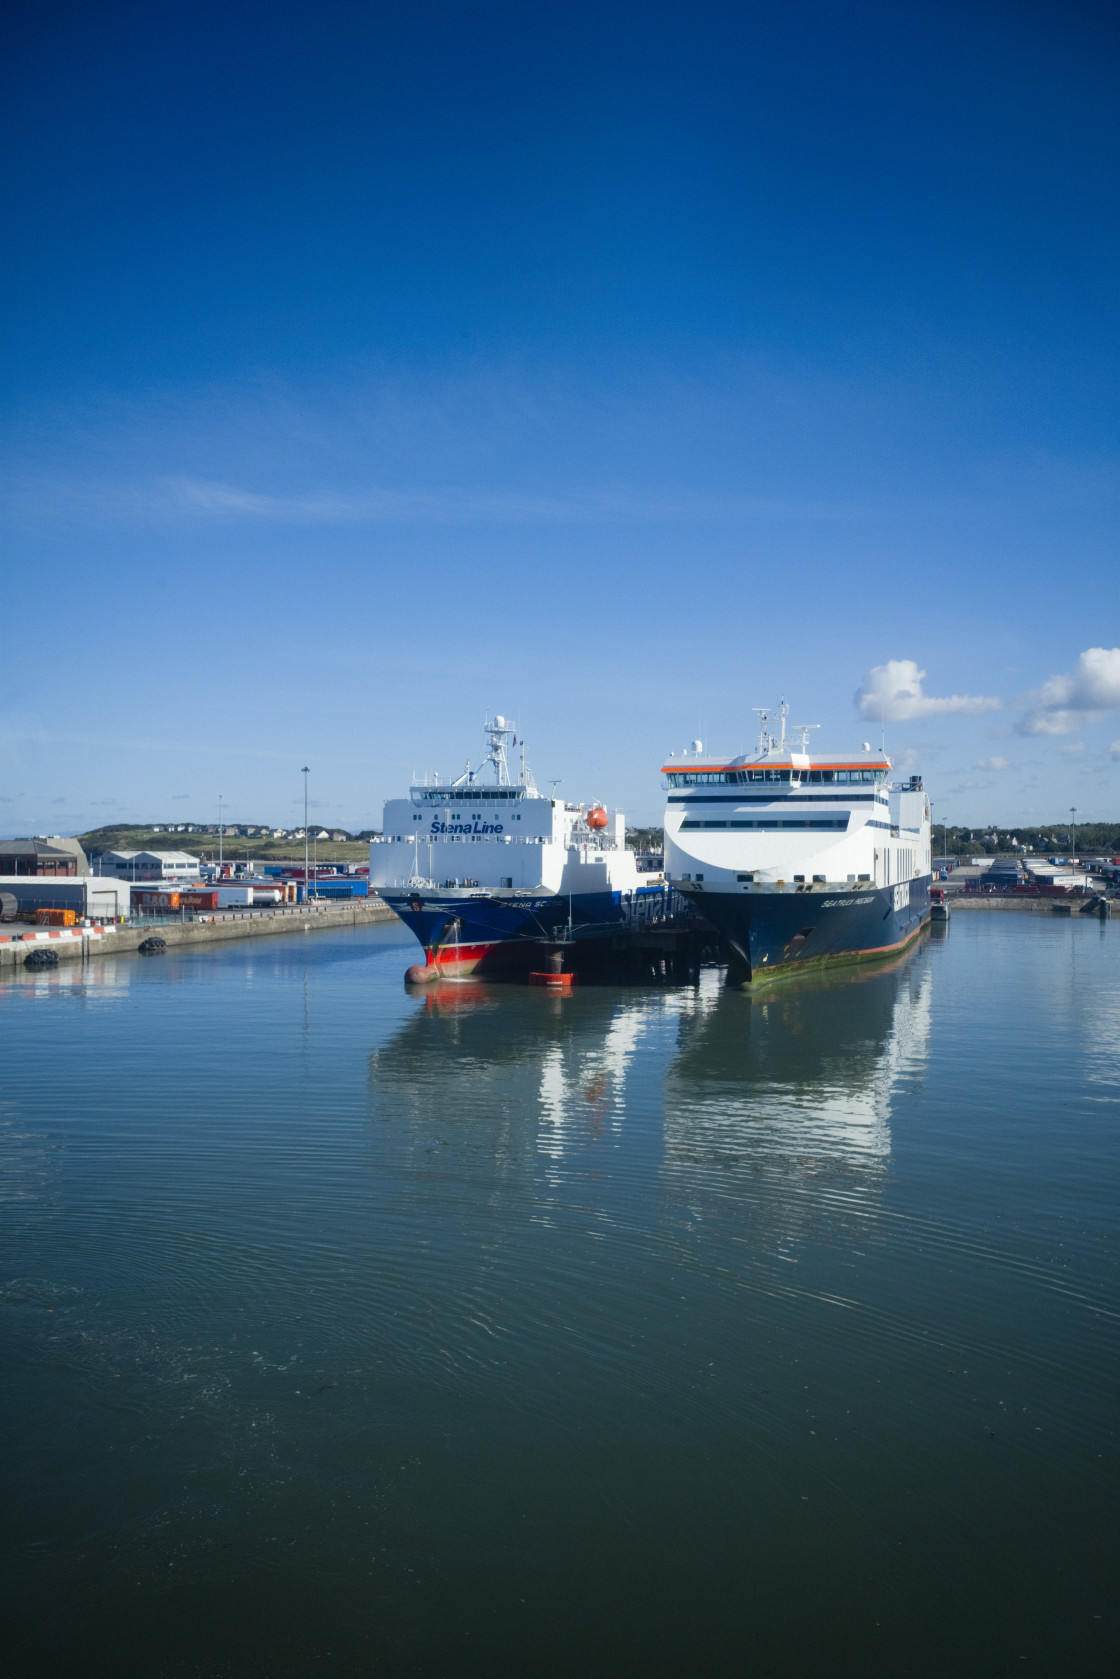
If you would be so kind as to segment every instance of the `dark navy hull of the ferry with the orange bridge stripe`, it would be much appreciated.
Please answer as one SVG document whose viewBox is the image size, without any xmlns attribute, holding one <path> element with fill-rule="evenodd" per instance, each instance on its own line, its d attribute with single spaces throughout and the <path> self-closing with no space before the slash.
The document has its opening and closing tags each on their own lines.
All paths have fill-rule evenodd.
<svg viewBox="0 0 1120 1679">
<path fill-rule="evenodd" d="M 704 892 L 682 887 L 730 944 L 749 979 L 888 955 L 930 918 L 932 875 L 858 892 Z"/>
</svg>

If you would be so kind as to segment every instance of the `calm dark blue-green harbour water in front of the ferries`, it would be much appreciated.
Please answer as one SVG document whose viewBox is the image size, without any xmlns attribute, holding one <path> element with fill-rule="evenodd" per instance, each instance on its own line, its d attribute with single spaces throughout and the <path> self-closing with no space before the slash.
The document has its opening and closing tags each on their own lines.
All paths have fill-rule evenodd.
<svg viewBox="0 0 1120 1679">
<path fill-rule="evenodd" d="M 5 1672 L 1113 1674 L 1120 927 L 0 986 Z"/>
</svg>

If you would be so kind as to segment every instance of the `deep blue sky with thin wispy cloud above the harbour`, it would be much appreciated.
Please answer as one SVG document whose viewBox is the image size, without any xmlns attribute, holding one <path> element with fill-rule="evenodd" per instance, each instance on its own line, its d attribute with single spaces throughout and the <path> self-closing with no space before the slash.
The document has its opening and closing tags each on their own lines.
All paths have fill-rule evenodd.
<svg viewBox="0 0 1120 1679">
<path fill-rule="evenodd" d="M 885 720 L 1120 814 L 1096 5 L 25 8 L 0 831 L 379 821 L 516 717 L 658 819 Z M 868 720 L 871 719 L 871 720 Z"/>
</svg>

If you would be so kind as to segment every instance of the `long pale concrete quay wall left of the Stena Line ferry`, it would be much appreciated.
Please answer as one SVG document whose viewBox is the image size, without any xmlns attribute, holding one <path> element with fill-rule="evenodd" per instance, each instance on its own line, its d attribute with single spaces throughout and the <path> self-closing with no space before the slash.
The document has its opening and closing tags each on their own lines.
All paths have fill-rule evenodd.
<svg viewBox="0 0 1120 1679">
<path fill-rule="evenodd" d="M 257 910 L 243 915 L 227 915 L 213 922 L 160 922 L 158 925 L 106 927 L 101 937 L 74 928 L 82 937 L 24 939 L 12 937 L 35 928 L 5 923 L 7 942 L 0 944 L 0 974 L 24 967 L 32 950 L 55 950 L 60 962 L 89 960 L 101 955 L 121 955 L 136 950 L 144 939 L 166 942 L 168 950 L 180 945 L 225 944 L 232 939 L 267 939 L 274 934 L 326 932 L 329 927 L 373 927 L 378 922 L 395 922 L 393 910 L 379 898 L 351 898 L 343 903 L 299 903 L 290 908 Z"/>
</svg>

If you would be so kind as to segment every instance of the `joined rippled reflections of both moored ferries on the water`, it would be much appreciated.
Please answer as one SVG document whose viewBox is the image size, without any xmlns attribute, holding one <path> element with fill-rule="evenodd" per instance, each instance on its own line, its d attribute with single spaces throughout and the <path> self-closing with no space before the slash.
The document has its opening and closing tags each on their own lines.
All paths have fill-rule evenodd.
<svg viewBox="0 0 1120 1679">
<path fill-rule="evenodd" d="M 374 1117 L 406 1148 L 453 1145 L 542 1202 L 604 1175 L 677 1200 L 757 1199 L 811 1179 L 855 1209 L 890 1159 L 900 1085 L 929 1056 L 932 970 L 915 950 L 762 994 L 448 984 L 369 1061 Z M 485 1147 L 480 1150 L 480 1143 Z M 610 1162 L 610 1165 L 608 1165 Z"/>
</svg>

